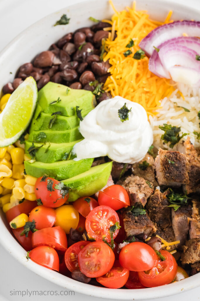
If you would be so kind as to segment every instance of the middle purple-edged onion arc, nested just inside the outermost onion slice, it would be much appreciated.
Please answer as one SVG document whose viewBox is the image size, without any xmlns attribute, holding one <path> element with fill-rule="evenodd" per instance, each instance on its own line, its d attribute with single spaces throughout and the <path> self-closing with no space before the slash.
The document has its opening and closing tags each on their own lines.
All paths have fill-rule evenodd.
<svg viewBox="0 0 200 301">
<path fill-rule="evenodd" d="M 200 54 L 200 39 L 199 38 L 183 36 L 183 37 L 170 39 L 170 40 L 165 41 L 161 45 L 159 45 L 158 49 L 161 49 L 164 46 L 169 46 L 170 44 L 187 46 L 188 48 L 196 51 L 197 54 Z M 160 61 L 159 54 L 155 49 L 149 59 L 149 70 L 159 77 L 165 77 L 168 79 L 170 78 L 169 72 L 164 69 L 164 67 Z"/>
</svg>

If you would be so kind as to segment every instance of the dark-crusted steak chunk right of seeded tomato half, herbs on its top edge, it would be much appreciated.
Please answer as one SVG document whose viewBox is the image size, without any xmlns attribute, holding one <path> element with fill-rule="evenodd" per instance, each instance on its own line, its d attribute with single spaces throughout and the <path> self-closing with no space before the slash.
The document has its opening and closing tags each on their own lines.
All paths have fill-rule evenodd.
<svg viewBox="0 0 200 301">
<path fill-rule="evenodd" d="M 127 237 L 139 234 L 147 234 L 149 236 L 157 230 L 148 214 L 134 216 L 133 213 L 128 210 L 122 210 L 121 216 Z"/>
</svg>

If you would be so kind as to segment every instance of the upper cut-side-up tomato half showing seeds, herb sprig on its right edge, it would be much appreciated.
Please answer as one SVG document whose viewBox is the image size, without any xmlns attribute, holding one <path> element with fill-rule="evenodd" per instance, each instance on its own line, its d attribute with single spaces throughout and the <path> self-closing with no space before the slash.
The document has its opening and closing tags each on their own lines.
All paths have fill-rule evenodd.
<svg viewBox="0 0 200 301">
<path fill-rule="evenodd" d="M 108 242 L 110 238 L 110 227 L 119 223 L 118 214 L 109 206 L 98 206 L 94 208 L 87 216 L 85 229 L 87 233 L 95 240 L 105 238 Z M 117 236 L 119 229 L 113 233 L 113 238 Z"/>
</svg>

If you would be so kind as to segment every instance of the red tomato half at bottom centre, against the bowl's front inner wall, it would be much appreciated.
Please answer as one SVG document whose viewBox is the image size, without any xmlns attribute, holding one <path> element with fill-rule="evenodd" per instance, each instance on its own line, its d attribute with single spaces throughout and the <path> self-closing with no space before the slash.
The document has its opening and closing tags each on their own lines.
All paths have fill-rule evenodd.
<svg viewBox="0 0 200 301">
<path fill-rule="evenodd" d="M 97 277 L 97 281 L 105 287 L 120 288 L 127 282 L 129 270 L 123 268 L 118 260 L 115 260 L 113 267 L 109 272 L 101 277 Z"/>
</svg>

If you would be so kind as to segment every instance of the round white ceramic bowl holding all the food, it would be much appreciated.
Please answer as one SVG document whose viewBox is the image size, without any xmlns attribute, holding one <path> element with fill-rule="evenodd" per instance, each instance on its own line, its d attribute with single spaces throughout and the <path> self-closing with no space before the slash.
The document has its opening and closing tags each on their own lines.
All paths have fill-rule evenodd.
<svg viewBox="0 0 200 301">
<path fill-rule="evenodd" d="M 132 1 L 114 0 L 114 4 L 118 10 L 122 10 L 125 6 L 131 6 Z M 170 9 L 174 11 L 172 15 L 174 20 L 200 20 L 200 11 L 197 9 L 193 10 L 167 1 L 137 0 L 137 9 L 148 10 L 151 18 L 156 20 L 164 20 Z M 67 17 L 70 17 L 70 23 L 65 26 L 52 26 L 62 14 L 67 14 Z M 15 72 L 21 64 L 31 61 L 35 55 L 47 50 L 52 43 L 67 32 L 73 32 L 80 27 L 91 26 L 93 23 L 88 20 L 88 17 L 106 19 L 110 18 L 112 14 L 112 8 L 107 0 L 93 0 L 61 9 L 30 26 L 0 53 L 0 86 L 2 87 L 8 81 L 12 82 Z M 200 273 L 173 284 L 141 290 L 116 290 L 80 283 L 27 260 L 25 250 L 10 234 L 5 215 L 2 210 L 0 211 L 0 242 L 4 248 L 31 271 L 69 290 L 107 299 L 141 300 L 171 296 L 200 285 Z"/>
</svg>

